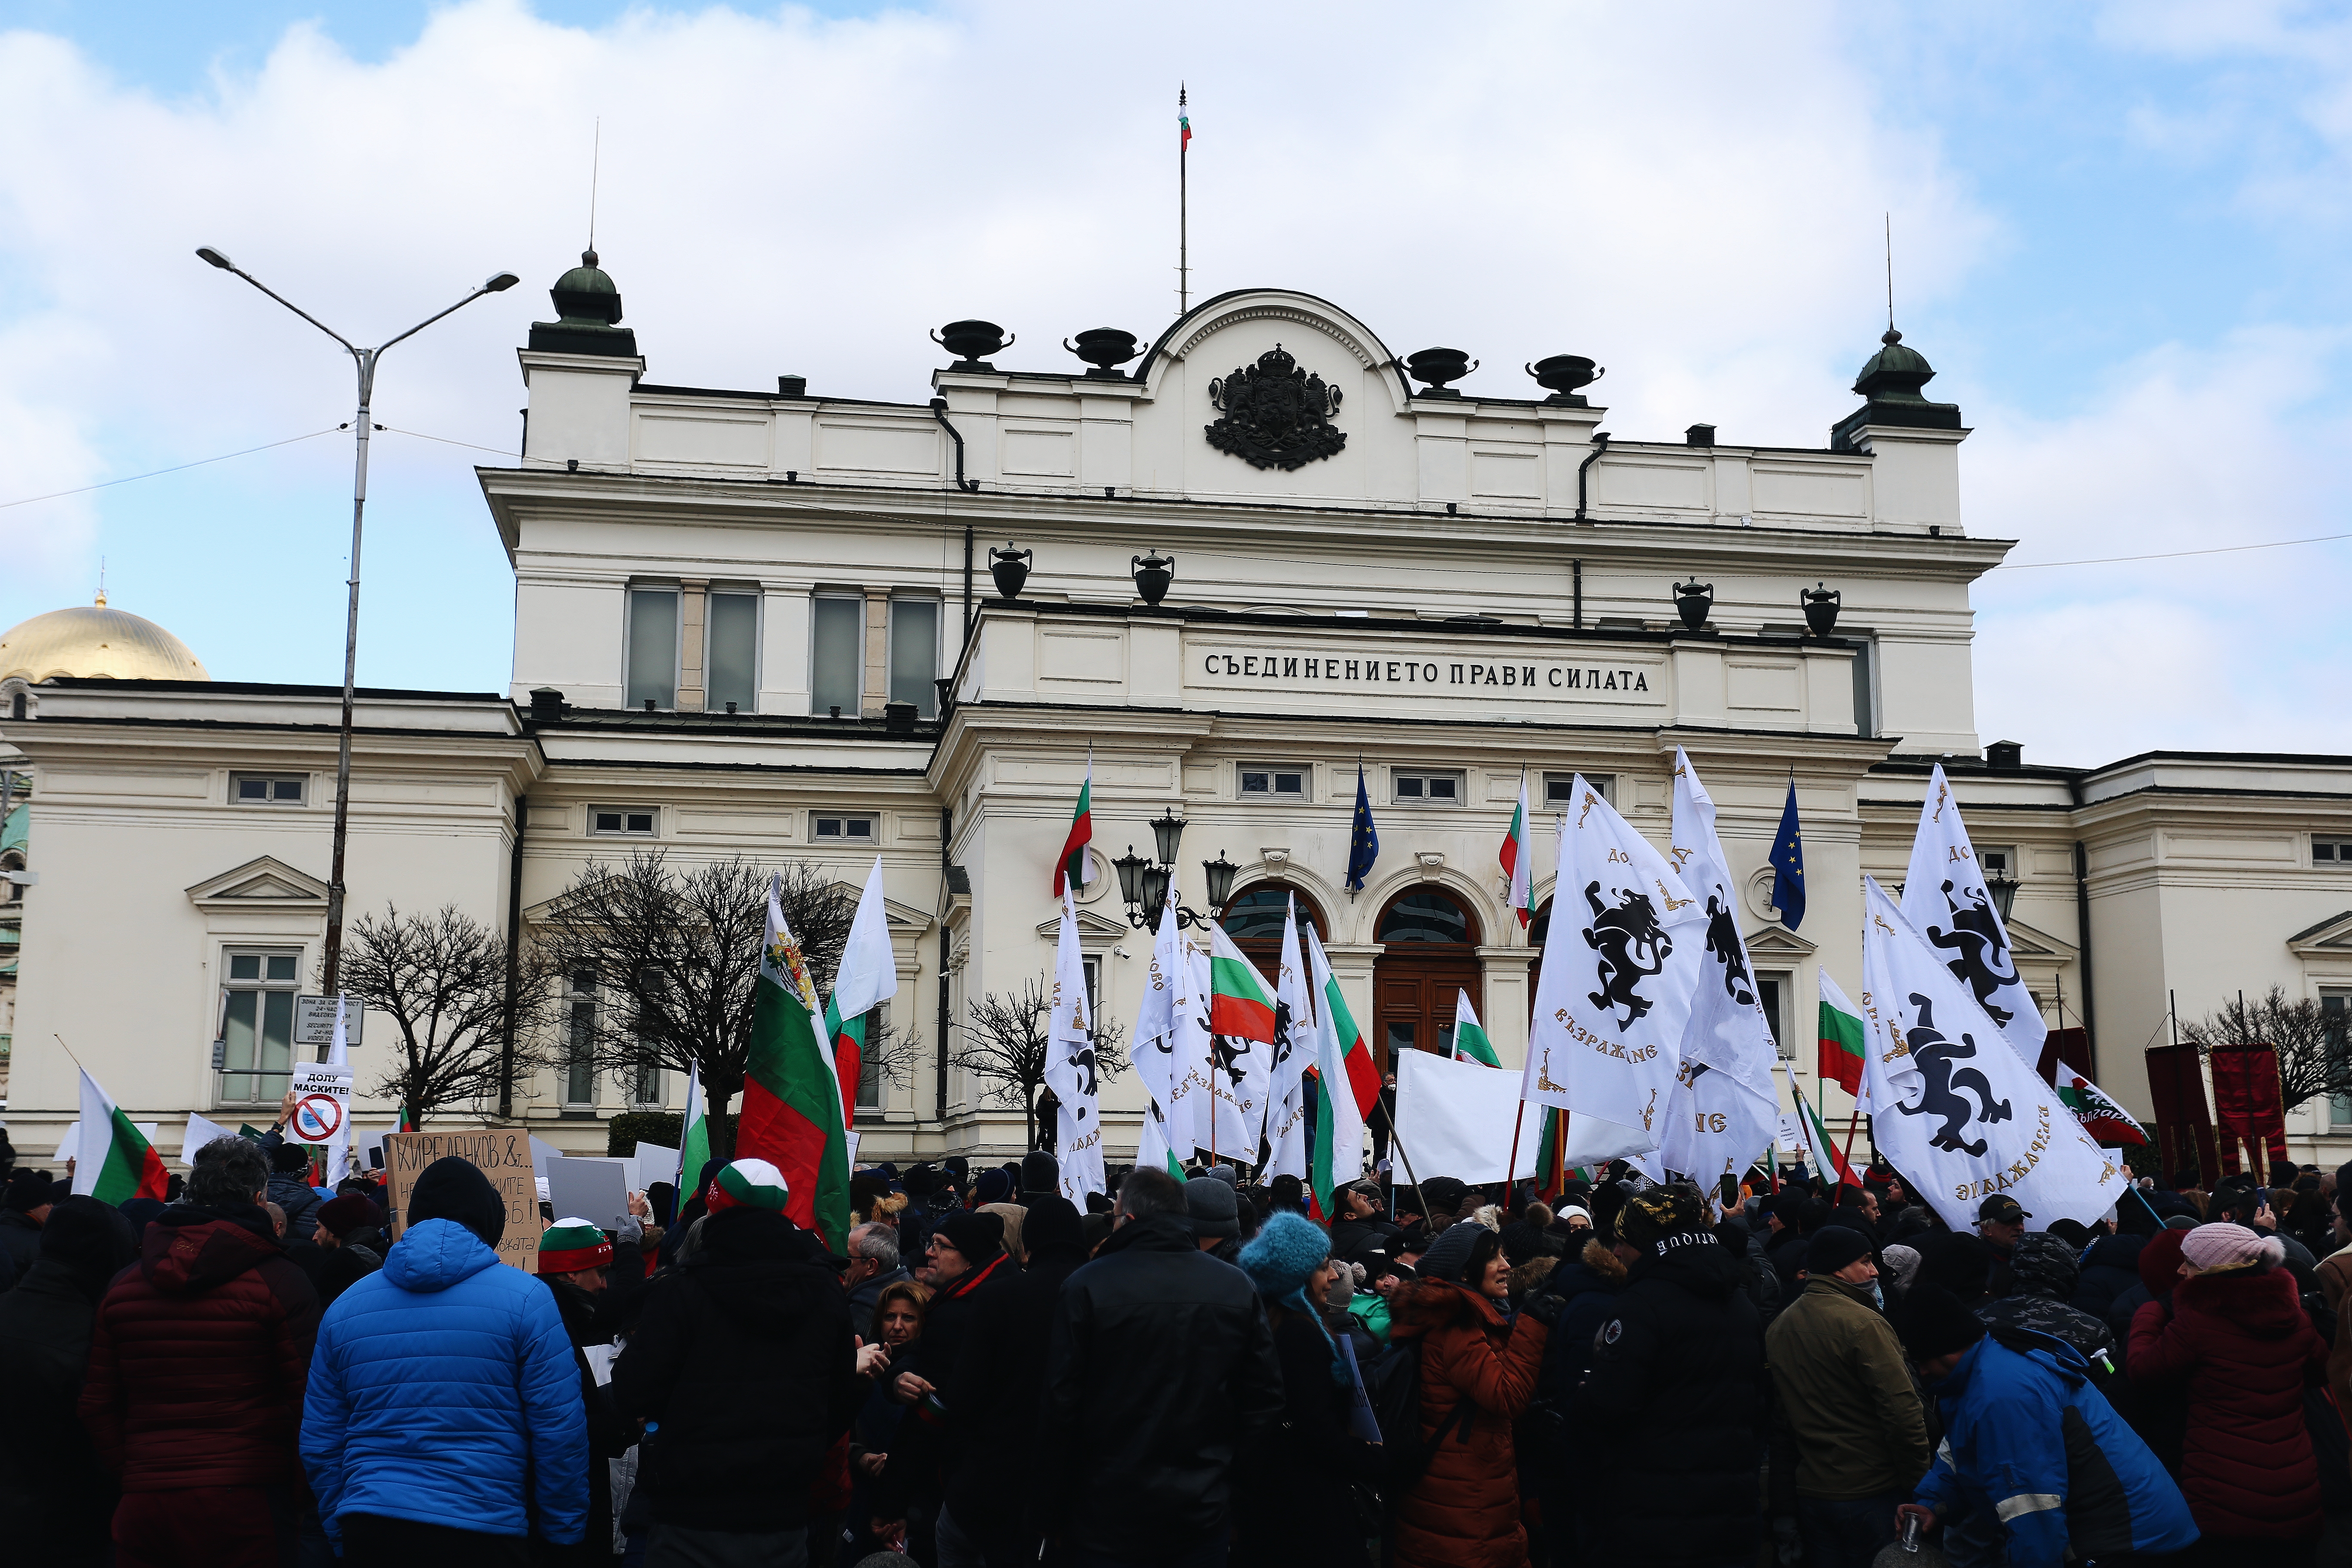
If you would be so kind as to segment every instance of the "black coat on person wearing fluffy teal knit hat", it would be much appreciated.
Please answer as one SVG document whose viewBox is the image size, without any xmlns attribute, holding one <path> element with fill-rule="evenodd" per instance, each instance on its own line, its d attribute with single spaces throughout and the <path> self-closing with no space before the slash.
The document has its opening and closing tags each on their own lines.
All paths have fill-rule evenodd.
<svg viewBox="0 0 2352 1568">
<path fill-rule="evenodd" d="M 1331 1378 L 1331 1340 L 1296 1312 L 1275 1331 L 1275 1361 L 1282 1415 L 1242 1448 L 1232 1563 L 1362 1568 L 1364 1519 L 1352 1483 L 1376 1479 L 1378 1450 L 1348 1429 L 1352 1385 Z"/>
</svg>

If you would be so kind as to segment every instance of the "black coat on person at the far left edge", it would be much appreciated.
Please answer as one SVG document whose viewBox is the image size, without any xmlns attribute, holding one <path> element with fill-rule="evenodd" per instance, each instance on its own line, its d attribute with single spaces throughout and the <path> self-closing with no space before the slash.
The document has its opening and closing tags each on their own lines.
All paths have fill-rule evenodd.
<svg viewBox="0 0 2352 1568">
<path fill-rule="evenodd" d="M 19 1563 L 113 1561 L 115 1481 L 75 1415 L 96 1314 L 99 1302 L 54 1258 L 35 1260 L 0 1295 L 0 1519 Z"/>
</svg>

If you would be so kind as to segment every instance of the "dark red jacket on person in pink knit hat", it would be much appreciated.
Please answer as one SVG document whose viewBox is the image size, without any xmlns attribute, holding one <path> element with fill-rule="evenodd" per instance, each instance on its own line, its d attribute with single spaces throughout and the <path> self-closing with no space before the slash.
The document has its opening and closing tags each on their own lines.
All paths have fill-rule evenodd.
<svg viewBox="0 0 2352 1568">
<path fill-rule="evenodd" d="M 2303 1314 L 2286 1269 L 2197 1274 L 2173 1286 L 2171 1314 L 2131 1319 L 2133 1382 L 2190 1387 L 2180 1490 L 2206 1535 L 2319 1535 L 2319 1467 L 2303 1425 L 2303 1385 L 2328 1345 Z"/>
</svg>

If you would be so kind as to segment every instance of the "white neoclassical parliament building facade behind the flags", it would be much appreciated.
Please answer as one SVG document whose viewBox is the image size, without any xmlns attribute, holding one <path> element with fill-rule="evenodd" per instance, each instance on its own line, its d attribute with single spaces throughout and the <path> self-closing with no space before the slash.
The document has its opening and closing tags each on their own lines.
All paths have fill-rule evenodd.
<svg viewBox="0 0 2352 1568">
<path fill-rule="evenodd" d="M 1816 964 L 1860 990 L 1860 875 L 1900 882 L 1938 759 L 2018 884 L 2016 954 L 2049 1020 L 2089 1027 L 2093 1077 L 2136 1112 L 2173 992 L 2183 1016 L 2270 985 L 2352 994 L 2352 757 L 2084 769 L 1983 743 L 1969 595 L 2011 541 L 1997 517 L 1966 527 L 1966 428 L 1898 341 L 1858 407 L 1813 393 L 1823 447 L 1771 449 L 1708 425 L 1609 433 L 1576 390 L 1590 362 L 1564 357 L 1531 397 L 1461 395 L 1446 350 L 1399 362 L 1284 289 L 1207 301 L 1148 346 L 1087 334 L 1094 369 L 1000 369 L 997 334 L 960 322 L 955 364 L 910 402 L 797 376 L 663 386 L 593 263 L 555 303 L 520 355 L 524 456 L 480 470 L 515 571 L 513 682 L 362 691 L 353 912 L 454 903 L 529 940 L 583 865 L 635 844 L 814 860 L 847 884 L 880 856 L 891 1023 L 917 1044 L 903 1081 L 861 1095 L 863 1157 L 1018 1147 L 1018 1112 L 981 1105 L 946 1058 L 969 1001 L 1051 961 L 1051 863 L 1089 762 L 1080 922 L 1120 1020 L 1148 936 L 1110 860 L 1152 856 L 1150 823 L 1174 813 L 1183 900 L 1202 907 L 1204 863 L 1223 863 L 1249 947 L 1298 898 L 1383 1051 L 1439 1044 L 1468 990 L 1510 1058 L 1538 961 L 1496 870 L 1522 776 L 1538 811 L 1573 773 L 1604 780 L 1663 842 L 1677 745 L 1722 806 L 1804 1079 Z M 1000 552 L 1025 571 L 1000 583 Z M 1160 578 L 1138 557 L 1171 574 L 1164 595 L 1143 595 Z M 1809 632 L 1804 590 L 1839 595 L 1830 635 Z M 367 635 L 397 625 L 379 602 Z M 47 1152 L 73 1117 L 52 1034 L 139 1119 L 275 1100 L 266 1025 L 226 1067 L 214 1041 L 315 969 L 336 693 L 78 675 L 9 691 L 40 875 L 16 1143 Z M 1359 771 L 1381 856 L 1350 896 Z M 1766 867 L 1792 778 L 1797 931 Z M 1536 846 L 1543 903 L 1550 837 Z M 383 1039 L 374 1020 L 362 1084 Z M 640 1093 L 677 1105 L 684 1086 L 553 1070 L 517 1114 L 588 1152 Z M 1112 1145 L 1138 1110 L 1134 1077 L 1105 1091 Z M 1832 1091 L 1830 1117 L 1846 1110 Z M 362 1100 L 360 1124 L 388 1112 Z M 2288 1124 L 2298 1159 L 2352 1152 L 2352 1107 Z"/>
</svg>

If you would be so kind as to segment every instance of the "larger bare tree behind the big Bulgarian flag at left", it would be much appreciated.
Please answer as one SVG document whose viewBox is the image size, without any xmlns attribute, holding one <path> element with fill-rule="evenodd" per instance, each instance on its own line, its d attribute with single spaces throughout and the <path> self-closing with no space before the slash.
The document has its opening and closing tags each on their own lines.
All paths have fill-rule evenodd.
<svg viewBox="0 0 2352 1568">
<path fill-rule="evenodd" d="M 783 919 L 823 997 L 849 943 L 856 891 L 804 860 L 776 875 Z M 644 1067 L 701 1072 L 717 1126 L 750 1063 L 767 886 L 767 867 L 741 856 L 673 867 L 656 849 L 621 865 L 590 863 L 536 933 L 546 971 L 593 999 L 572 1009 L 567 1048 L 623 1084 Z M 870 1048 L 884 1074 L 903 1081 L 913 1037 L 877 1034 Z"/>
</svg>

